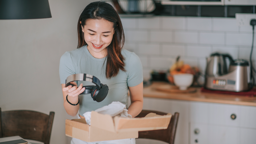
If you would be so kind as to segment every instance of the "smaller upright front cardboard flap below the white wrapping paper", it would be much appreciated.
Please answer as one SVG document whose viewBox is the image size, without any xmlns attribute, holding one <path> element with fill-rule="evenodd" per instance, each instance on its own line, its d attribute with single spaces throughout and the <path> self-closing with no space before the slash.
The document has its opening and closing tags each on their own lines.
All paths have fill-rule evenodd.
<svg viewBox="0 0 256 144">
<path fill-rule="evenodd" d="M 96 111 L 91 111 L 91 127 L 116 132 L 112 116 L 100 114 Z"/>
</svg>

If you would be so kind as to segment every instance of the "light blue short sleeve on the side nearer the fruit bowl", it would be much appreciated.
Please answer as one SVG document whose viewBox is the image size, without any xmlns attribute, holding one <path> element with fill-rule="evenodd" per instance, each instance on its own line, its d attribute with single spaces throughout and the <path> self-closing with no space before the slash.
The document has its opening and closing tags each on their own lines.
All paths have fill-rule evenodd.
<svg viewBox="0 0 256 144">
<path fill-rule="evenodd" d="M 143 71 L 140 58 L 132 53 L 129 63 L 128 63 L 128 78 L 127 85 L 128 87 L 134 87 L 143 82 Z"/>
</svg>

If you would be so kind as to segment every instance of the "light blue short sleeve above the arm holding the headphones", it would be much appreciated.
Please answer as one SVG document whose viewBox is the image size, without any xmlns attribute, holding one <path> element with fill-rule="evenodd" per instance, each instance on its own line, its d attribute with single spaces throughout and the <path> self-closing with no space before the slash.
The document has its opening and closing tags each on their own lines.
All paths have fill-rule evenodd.
<svg viewBox="0 0 256 144">
<path fill-rule="evenodd" d="M 59 61 L 59 78 L 61 84 L 66 84 L 68 76 L 76 74 L 72 57 L 69 52 L 65 52 Z"/>
</svg>

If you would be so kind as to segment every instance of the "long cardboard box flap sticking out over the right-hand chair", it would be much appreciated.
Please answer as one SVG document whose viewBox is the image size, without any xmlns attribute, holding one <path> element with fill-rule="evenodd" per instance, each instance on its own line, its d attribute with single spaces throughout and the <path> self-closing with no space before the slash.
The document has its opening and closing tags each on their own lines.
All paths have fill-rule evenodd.
<svg viewBox="0 0 256 144">
<path fill-rule="evenodd" d="M 114 123 L 117 132 L 167 129 L 171 117 L 172 115 L 170 113 L 164 116 L 149 113 L 144 118 L 123 118 L 116 116 L 114 117 Z"/>
</svg>

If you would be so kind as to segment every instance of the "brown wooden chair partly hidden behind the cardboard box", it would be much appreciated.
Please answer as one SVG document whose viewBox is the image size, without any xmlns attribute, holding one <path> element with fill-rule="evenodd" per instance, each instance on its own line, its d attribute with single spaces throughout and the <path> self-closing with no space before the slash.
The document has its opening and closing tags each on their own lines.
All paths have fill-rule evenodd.
<svg viewBox="0 0 256 144">
<path fill-rule="evenodd" d="M 136 118 L 145 117 L 148 113 L 156 113 L 157 115 L 166 115 L 167 113 L 159 112 L 159 111 L 152 111 L 152 110 L 142 110 L 141 113 Z M 139 131 L 138 138 L 144 139 L 156 139 L 165 141 L 169 144 L 174 144 L 174 138 L 176 134 L 176 128 L 178 123 L 179 113 L 175 113 L 171 120 L 170 124 L 167 129 L 160 129 L 160 130 L 149 130 L 149 131 Z"/>
</svg>

